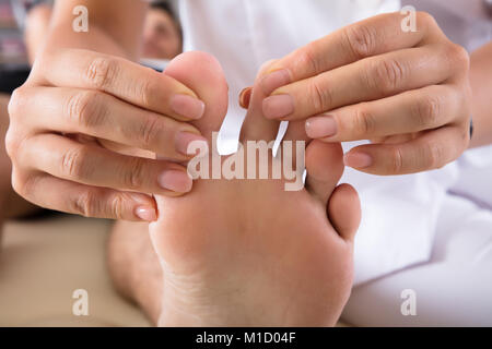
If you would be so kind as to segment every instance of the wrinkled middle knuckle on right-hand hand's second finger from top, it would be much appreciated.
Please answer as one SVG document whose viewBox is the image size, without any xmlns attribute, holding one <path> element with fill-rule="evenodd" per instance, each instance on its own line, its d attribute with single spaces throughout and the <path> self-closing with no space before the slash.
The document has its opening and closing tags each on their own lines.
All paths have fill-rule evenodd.
<svg viewBox="0 0 492 349">
<path fill-rule="evenodd" d="M 407 72 L 405 67 L 394 59 L 384 59 L 373 63 L 368 71 L 368 85 L 384 95 L 397 91 L 405 81 Z"/>
</svg>

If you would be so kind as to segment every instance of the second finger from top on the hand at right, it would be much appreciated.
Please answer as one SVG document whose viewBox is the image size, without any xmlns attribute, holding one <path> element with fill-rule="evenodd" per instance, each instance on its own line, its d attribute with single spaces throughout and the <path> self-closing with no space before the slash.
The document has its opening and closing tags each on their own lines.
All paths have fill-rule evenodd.
<svg viewBox="0 0 492 349">
<path fill-rule="evenodd" d="M 283 86 L 263 101 L 263 115 L 300 120 L 335 108 L 440 84 L 454 62 L 447 48 L 422 47 L 367 58 L 315 77 Z"/>
</svg>

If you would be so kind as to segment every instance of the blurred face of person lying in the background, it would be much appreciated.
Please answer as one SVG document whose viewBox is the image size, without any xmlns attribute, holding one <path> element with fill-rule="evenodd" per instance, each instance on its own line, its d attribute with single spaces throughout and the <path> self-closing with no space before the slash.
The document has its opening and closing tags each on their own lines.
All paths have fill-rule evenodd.
<svg viewBox="0 0 492 349">
<path fill-rule="evenodd" d="M 180 52 L 181 37 L 176 22 L 162 10 L 149 10 L 143 29 L 143 57 L 173 59 Z"/>
</svg>

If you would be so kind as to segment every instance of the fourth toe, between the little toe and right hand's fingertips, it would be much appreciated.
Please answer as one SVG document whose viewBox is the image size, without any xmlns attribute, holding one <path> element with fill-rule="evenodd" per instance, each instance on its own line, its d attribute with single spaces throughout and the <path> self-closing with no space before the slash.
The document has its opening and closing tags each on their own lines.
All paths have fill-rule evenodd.
<svg viewBox="0 0 492 349">
<path fill-rule="evenodd" d="M 343 173 L 343 167 L 339 143 L 313 141 L 306 148 L 306 189 L 325 206 Z"/>
</svg>

